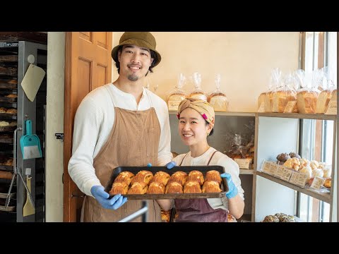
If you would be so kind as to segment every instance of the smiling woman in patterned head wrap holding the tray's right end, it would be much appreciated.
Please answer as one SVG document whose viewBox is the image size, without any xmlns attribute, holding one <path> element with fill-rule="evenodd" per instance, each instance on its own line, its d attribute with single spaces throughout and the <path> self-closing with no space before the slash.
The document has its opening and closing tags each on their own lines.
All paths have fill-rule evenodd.
<svg viewBox="0 0 339 254">
<path fill-rule="evenodd" d="M 184 99 L 178 108 L 179 135 L 189 152 L 178 155 L 170 164 L 178 166 L 219 165 L 225 168 L 229 191 L 225 198 L 157 200 L 162 210 L 177 210 L 176 222 L 227 222 L 227 214 L 239 219 L 244 213 L 244 190 L 239 179 L 239 166 L 230 157 L 208 145 L 213 134 L 215 112 L 201 99 Z M 169 167 L 167 167 L 169 168 Z"/>
</svg>

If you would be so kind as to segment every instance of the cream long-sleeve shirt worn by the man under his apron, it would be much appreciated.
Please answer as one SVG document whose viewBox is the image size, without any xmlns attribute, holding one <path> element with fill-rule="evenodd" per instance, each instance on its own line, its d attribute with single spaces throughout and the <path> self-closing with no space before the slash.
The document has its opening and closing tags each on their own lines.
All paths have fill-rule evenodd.
<svg viewBox="0 0 339 254">
<path fill-rule="evenodd" d="M 171 132 L 166 102 L 145 88 L 139 104 L 136 103 L 136 98 L 133 95 L 122 92 L 112 83 L 109 85 L 109 89 L 112 89 L 114 94 L 115 107 L 134 111 L 155 108 L 161 128 L 157 164 L 164 166 L 170 162 L 172 160 Z M 97 87 L 86 95 L 76 111 L 69 175 L 86 195 L 92 196 L 90 193 L 92 186 L 102 185 L 95 175 L 93 159 L 107 141 L 114 124 L 114 116 L 114 105 L 105 87 Z"/>
</svg>

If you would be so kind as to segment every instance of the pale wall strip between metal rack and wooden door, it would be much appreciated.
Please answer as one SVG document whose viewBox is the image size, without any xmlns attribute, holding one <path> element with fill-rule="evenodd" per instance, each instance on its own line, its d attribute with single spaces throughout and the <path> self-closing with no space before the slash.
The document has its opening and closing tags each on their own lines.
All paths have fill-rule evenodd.
<svg viewBox="0 0 339 254">
<path fill-rule="evenodd" d="M 46 109 L 46 222 L 63 221 L 65 32 L 48 32 Z"/>
</svg>

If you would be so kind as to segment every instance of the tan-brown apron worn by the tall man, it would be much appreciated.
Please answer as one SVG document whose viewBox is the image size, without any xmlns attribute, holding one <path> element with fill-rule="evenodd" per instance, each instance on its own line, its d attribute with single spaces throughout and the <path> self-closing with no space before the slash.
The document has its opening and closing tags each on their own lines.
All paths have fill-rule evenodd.
<svg viewBox="0 0 339 254">
<path fill-rule="evenodd" d="M 160 140 L 160 123 L 155 109 L 132 111 L 115 107 L 112 90 L 105 85 L 112 98 L 115 119 L 107 142 L 93 161 L 95 174 L 106 186 L 113 169 L 126 166 L 157 165 Z M 147 91 L 146 91 L 147 94 Z M 160 207 L 155 200 L 148 200 L 147 222 L 161 222 Z M 142 208 L 142 200 L 127 200 L 117 210 L 103 208 L 95 198 L 86 196 L 83 202 L 83 222 L 117 222 Z M 141 217 L 133 220 L 141 222 Z"/>
</svg>

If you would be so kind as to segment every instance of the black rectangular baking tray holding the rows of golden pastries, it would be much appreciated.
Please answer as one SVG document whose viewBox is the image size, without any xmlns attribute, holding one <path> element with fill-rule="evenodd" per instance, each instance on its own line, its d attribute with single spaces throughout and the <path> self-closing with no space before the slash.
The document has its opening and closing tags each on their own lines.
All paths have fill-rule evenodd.
<svg viewBox="0 0 339 254">
<path fill-rule="evenodd" d="M 189 174 L 190 171 L 198 170 L 203 173 L 205 179 L 206 172 L 210 170 L 219 171 L 220 174 L 225 173 L 225 169 L 222 166 L 181 166 L 173 167 L 172 169 L 167 169 L 167 167 L 117 167 L 113 169 L 112 175 L 109 178 L 109 181 L 105 187 L 105 191 L 108 193 L 113 185 L 114 179 L 118 176 L 121 171 L 130 171 L 133 174 L 137 174 L 138 171 L 148 170 L 153 173 L 157 171 L 165 171 L 169 175 L 176 171 L 184 171 Z M 160 199 L 185 199 L 185 198 L 222 198 L 225 197 L 226 192 L 228 191 L 227 181 L 225 178 L 222 178 L 221 182 L 221 192 L 220 193 L 167 193 L 167 194 L 126 194 L 124 197 L 131 200 L 160 200 Z"/>
</svg>

